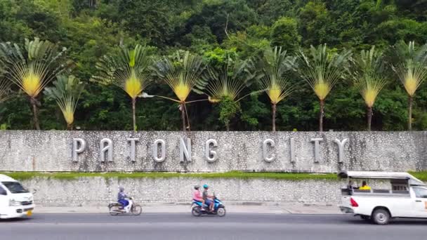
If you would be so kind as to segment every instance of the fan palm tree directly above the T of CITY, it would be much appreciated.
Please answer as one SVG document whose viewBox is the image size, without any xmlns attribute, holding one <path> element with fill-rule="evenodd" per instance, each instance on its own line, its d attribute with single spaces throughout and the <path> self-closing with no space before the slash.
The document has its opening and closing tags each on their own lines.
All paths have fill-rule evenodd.
<svg viewBox="0 0 427 240">
<path fill-rule="evenodd" d="M 350 55 L 351 52 L 346 50 L 341 53 L 329 53 L 326 44 L 319 45 L 317 48 L 310 46 L 307 55 L 303 51 L 298 55 L 299 72 L 319 98 L 320 132 L 323 131 L 324 100 L 336 82 L 344 77 Z"/>
</svg>

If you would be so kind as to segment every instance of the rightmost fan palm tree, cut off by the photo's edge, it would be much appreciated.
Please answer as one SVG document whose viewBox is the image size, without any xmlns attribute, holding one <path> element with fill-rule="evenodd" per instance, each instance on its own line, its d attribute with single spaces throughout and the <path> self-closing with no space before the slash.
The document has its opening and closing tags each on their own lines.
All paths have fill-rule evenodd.
<svg viewBox="0 0 427 240">
<path fill-rule="evenodd" d="M 421 83 L 427 76 L 427 44 L 416 48 L 414 41 L 406 44 L 400 41 L 394 46 L 395 62 L 393 71 L 398 74 L 400 81 L 408 94 L 408 130 L 412 130 L 412 101 Z"/>
</svg>

